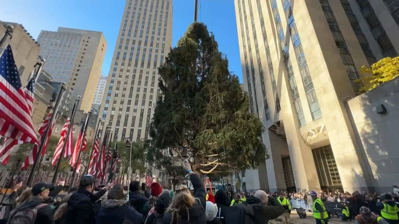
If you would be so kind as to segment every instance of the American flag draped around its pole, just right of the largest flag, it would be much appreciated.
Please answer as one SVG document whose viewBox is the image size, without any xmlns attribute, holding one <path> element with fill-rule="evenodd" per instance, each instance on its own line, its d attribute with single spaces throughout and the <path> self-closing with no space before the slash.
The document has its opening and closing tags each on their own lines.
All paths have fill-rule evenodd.
<svg viewBox="0 0 399 224">
<path fill-rule="evenodd" d="M 52 114 L 53 114 L 53 112 L 49 112 L 49 114 L 47 115 L 47 118 L 43 121 L 43 124 L 41 125 L 41 127 L 39 128 L 39 131 L 38 131 L 38 133 L 41 136 L 40 140 L 39 140 L 40 144 L 42 142 L 44 142 L 43 149 L 41 150 L 41 155 L 43 155 L 43 156 L 46 152 L 47 145 L 48 145 L 50 137 L 51 137 L 51 132 L 52 132 L 52 130 L 54 128 L 54 124 L 55 124 L 55 119 L 53 119 L 53 121 L 52 121 L 53 124 L 51 125 L 49 131 L 47 132 L 47 136 L 44 136 L 45 129 L 47 128 L 47 126 L 49 124 L 49 120 L 50 120 Z M 39 150 L 39 145 L 35 144 L 33 146 L 32 151 L 30 151 L 30 153 L 28 154 L 28 157 L 26 157 L 24 163 L 22 164 L 22 166 L 21 166 L 22 170 L 26 169 L 29 165 L 32 165 L 34 163 L 34 161 L 38 157 L 38 150 Z"/>
</svg>

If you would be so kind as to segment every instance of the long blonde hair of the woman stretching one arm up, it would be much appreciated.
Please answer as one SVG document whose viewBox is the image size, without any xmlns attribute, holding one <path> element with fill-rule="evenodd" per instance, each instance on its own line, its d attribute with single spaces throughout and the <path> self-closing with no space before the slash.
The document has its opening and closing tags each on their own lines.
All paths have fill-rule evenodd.
<svg viewBox="0 0 399 224">
<path fill-rule="evenodd" d="M 185 185 L 180 185 L 175 191 L 172 203 L 170 203 L 169 207 L 166 209 L 166 212 L 172 214 L 172 220 L 170 223 L 172 224 L 173 220 L 176 220 L 177 224 L 180 224 L 180 213 L 183 211 L 187 212 L 188 223 L 190 223 L 190 214 L 188 210 L 193 206 L 193 204 L 194 197 L 191 195 L 188 188 Z"/>
</svg>

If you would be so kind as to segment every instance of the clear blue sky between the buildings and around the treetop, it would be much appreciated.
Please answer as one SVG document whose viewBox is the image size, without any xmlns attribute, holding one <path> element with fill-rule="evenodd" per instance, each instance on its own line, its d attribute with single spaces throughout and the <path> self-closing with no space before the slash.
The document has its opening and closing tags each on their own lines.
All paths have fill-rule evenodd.
<svg viewBox="0 0 399 224">
<path fill-rule="evenodd" d="M 194 20 L 194 0 L 173 1 L 175 45 Z M 125 0 L 0 0 L 0 20 L 17 22 L 37 38 L 40 30 L 56 31 L 59 26 L 103 31 L 108 49 L 103 73 L 108 75 Z M 229 59 L 230 71 L 242 82 L 233 0 L 199 0 L 198 20 L 208 26 Z"/>
</svg>

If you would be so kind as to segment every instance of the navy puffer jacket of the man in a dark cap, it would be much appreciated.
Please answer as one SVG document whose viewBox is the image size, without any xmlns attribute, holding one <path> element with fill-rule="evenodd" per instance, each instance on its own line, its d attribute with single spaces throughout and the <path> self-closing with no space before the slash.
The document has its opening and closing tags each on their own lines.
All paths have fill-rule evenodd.
<svg viewBox="0 0 399 224">
<path fill-rule="evenodd" d="M 105 194 L 101 189 L 95 195 L 86 189 L 79 188 L 68 200 L 67 211 L 65 212 L 65 224 L 94 224 L 95 208 L 94 203 Z"/>
</svg>

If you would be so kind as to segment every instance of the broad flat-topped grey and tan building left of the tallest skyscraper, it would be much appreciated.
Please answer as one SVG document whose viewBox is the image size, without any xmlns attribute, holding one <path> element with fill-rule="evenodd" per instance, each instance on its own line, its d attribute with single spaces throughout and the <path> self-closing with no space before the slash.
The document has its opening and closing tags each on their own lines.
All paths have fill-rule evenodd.
<svg viewBox="0 0 399 224">
<path fill-rule="evenodd" d="M 81 96 L 78 110 L 88 112 L 93 103 L 107 41 L 102 32 L 59 27 L 39 34 L 40 55 L 47 61 L 44 71 L 54 81 L 67 84 L 72 96 L 69 108 Z"/>
</svg>

